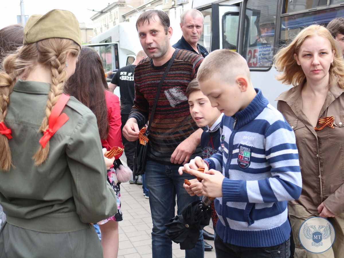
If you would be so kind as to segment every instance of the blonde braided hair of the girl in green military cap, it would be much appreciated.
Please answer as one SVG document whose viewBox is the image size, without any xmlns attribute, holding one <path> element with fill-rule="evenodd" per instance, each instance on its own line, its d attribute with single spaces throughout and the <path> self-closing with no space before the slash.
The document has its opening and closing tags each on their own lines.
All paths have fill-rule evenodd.
<svg viewBox="0 0 344 258">
<path fill-rule="evenodd" d="M 23 45 L 14 54 L 7 56 L 3 61 L 4 72 L 0 73 L 0 122 L 4 122 L 10 94 L 17 79 L 30 73 L 30 69 L 37 63 L 51 70 L 52 83 L 48 100 L 46 102 L 45 117 L 41 123 L 40 131 L 48 128 L 48 119 L 52 108 L 63 93 L 63 87 L 67 78 L 66 55 L 68 52 L 77 56 L 80 47 L 73 40 L 52 38 L 32 44 Z M 45 148 L 39 147 L 32 159 L 35 165 L 41 165 L 49 155 L 49 142 Z M 11 168 L 11 150 L 8 139 L 0 134 L 0 168 L 9 171 Z"/>
</svg>

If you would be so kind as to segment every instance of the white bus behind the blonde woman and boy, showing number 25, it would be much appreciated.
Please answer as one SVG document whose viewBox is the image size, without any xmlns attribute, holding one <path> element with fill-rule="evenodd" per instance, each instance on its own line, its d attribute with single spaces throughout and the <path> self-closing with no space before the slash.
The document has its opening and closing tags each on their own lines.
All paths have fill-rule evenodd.
<svg viewBox="0 0 344 258">
<path fill-rule="evenodd" d="M 253 85 L 274 106 L 289 87 L 275 79 L 273 54 L 300 28 L 344 17 L 344 0 L 194 0 L 192 8 L 205 17 L 198 43 L 208 52 L 230 49 L 241 54 L 250 67 Z"/>
</svg>

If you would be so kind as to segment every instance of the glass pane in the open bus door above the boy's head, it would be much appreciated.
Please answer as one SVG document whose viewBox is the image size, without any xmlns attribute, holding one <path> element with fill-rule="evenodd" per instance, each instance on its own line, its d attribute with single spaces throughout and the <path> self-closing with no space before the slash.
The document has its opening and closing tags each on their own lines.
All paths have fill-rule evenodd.
<svg viewBox="0 0 344 258">
<path fill-rule="evenodd" d="M 222 48 L 236 51 L 239 28 L 239 13 L 226 13 L 223 17 L 222 28 Z"/>
</svg>

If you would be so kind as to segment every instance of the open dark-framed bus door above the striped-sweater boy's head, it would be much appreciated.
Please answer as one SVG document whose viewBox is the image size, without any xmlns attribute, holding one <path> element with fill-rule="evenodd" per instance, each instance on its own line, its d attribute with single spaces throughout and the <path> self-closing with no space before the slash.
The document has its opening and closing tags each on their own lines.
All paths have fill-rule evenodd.
<svg viewBox="0 0 344 258">
<path fill-rule="evenodd" d="M 240 4 L 212 3 L 211 9 L 211 51 L 216 49 L 237 51 Z"/>
</svg>

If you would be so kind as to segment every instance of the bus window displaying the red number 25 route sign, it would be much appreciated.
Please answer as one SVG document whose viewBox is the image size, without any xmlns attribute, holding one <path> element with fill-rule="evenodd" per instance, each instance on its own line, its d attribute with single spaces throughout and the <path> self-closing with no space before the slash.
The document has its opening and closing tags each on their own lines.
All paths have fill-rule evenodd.
<svg viewBox="0 0 344 258">
<path fill-rule="evenodd" d="M 272 65 L 276 14 L 275 0 L 247 1 L 241 55 L 250 68 L 270 68 Z"/>
</svg>

